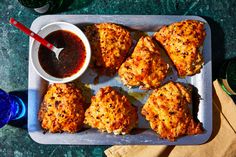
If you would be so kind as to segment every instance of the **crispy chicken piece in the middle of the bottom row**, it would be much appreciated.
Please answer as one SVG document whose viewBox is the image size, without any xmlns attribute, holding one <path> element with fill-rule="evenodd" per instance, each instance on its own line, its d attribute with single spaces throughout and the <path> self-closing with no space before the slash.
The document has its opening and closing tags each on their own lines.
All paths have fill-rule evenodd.
<svg viewBox="0 0 236 157">
<path fill-rule="evenodd" d="M 108 133 L 127 134 L 138 121 L 137 109 L 111 87 L 101 88 L 85 112 L 85 124 Z"/>
</svg>

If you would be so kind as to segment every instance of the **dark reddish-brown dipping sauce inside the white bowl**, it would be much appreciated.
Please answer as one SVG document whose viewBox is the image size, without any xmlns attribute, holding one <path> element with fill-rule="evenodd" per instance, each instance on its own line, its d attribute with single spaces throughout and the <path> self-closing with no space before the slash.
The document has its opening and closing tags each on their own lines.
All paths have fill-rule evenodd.
<svg viewBox="0 0 236 157">
<path fill-rule="evenodd" d="M 83 41 L 74 33 L 58 30 L 50 33 L 45 38 L 57 48 L 64 48 L 59 55 L 59 60 L 53 51 L 40 45 L 39 63 L 49 74 L 57 78 L 69 77 L 78 72 L 86 58 Z"/>
</svg>

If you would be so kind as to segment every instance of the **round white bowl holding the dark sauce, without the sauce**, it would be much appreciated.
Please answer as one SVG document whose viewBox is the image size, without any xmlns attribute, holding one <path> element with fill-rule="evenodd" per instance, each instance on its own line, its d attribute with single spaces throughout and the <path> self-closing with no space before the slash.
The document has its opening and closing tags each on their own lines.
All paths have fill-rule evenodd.
<svg viewBox="0 0 236 157">
<path fill-rule="evenodd" d="M 42 38 L 45 38 L 48 34 L 54 32 L 54 31 L 57 31 L 57 30 L 70 31 L 70 32 L 74 33 L 75 35 L 77 35 L 82 40 L 82 42 L 85 46 L 85 52 L 86 52 L 86 58 L 85 58 L 85 62 L 83 64 L 82 68 L 80 70 L 78 70 L 78 72 L 76 72 L 75 74 L 73 74 L 72 76 L 69 76 L 69 77 L 57 78 L 57 77 L 51 76 L 50 74 L 45 72 L 45 70 L 42 68 L 42 66 L 39 63 L 38 51 L 39 51 L 40 43 L 35 41 L 34 39 L 31 44 L 31 47 L 30 47 L 30 50 L 31 50 L 30 51 L 30 61 L 32 62 L 33 67 L 36 70 L 36 72 L 43 79 L 49 81 L 50 83 L 71 82 L 71 81 L 77 79 L 79 76 L 81 76 L 85 72 L 85 70 L 87 69 L 89 62 L 90 62 L 90 58 L 91 58 L 91 47 L 90 47 L 89 41 L 88 41 L 87 37 L 85 36 L 85 34 L 75 25 L 70 24 L 70 23 L 66 23 L 66 22 L 50 23 L 50 24 L 44 26 L 43 28 L 41 28 L 41 30 L 37 34 L 39 34 Z"/>
</svg>

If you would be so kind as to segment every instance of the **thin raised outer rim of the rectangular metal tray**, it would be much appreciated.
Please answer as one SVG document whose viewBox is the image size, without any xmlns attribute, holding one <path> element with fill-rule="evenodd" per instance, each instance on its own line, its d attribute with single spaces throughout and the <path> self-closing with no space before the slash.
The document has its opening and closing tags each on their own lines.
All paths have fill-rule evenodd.
<svg viewBox="0 0 236 157">
<path fill-rule="evenodd" d="M 44 19 L 45 17 L 61 17 L 61 16 L 64 16 L 64 17 L 105 17 L 105 18 L 110 18 L 110 17 L 113 17 L 113 18 L 115 18 L 115 17 L 124 17 L 124 16 L 126 16 L 126 17 L 138 17 L 138 18 L 141 18 L 141 17 L 152 17 L 152 18 L 159 18 L 159 17 L 161 17 L 161 18 L 163 18 L 163 17 L 185 17 L 185 18 L 189 18 L 189 19 L 192 19 L 192 18 L 195 18 L 196 20 L 198 19 L 198 20 L 201 20 L 201 21 L 203 21 L 207 26 L 208 26 L 208 28 L 209 28 L 209 32 L 208 32 L 208 35 L 209 35 L 209 38 L 210 38 L 210 49 L 208 50 L 209 51 L 209 53 L 210 53 L 210 61 L 212 61 L 212 57 L 211 57 L 211 55 L 212 55 L 212 48 L 211 48 L 211 28 L 210 28 L 210 25 L 208 24 L 208 22 L 204 19 L 204 18 L 202 18 L 202 17 L 200 17 L 200 16 L 191 16 L 191 15 L 43 15 L 43 16 L 39 16 L 39 17 L 37 17 L 33 22 L 32 22 L 32 24 L 31 24 L 31 29 L 32 30 L 34 30 L 33 28 L 34 28 L 34 26 L 38 23 L 38 21 L 40 21 L 41 19 Z M 31 40 L 32 39 L 30 39 L 29 40 L 29 46 L 30 46 L 30 44 L 31 44 Z M 30 49 L 29 49 L 29 52 L 30 52 Z M 29 67 L 30 67 L 30 61 L 29 61 Z M 210 63 L 210 74 L 212 75 L 212 63 Z M 28 73 L 28 77 L 29 77 L 29 75 L 30 75 L 30 70 L 29 70 L 29 73 Z M 210 76 L 210 82 L 211 82 L 211 87 L 212 87 L 212 76 Z M 28 87 L 30 86 L 30 82 L 28 82 Z M 205 139 L 203 139 L 203 140 L 201 140 L 201 141 L 198 141 L 198 142 L 194 142 L 194 143 L 192 143 L 192 144 L 189 144 L 189 143 L 187 143 L 187 144 L 177 144 L 177 145 L 196 145 L 196 144 L 203 144 L 203 143 L 205 143 L 205 142 L 207 142 L 208 141 L 208 139 L 210 138 L 210 136 L 211 136 L 211 134 L 212 134 L 212 88 L 210 89 L 210 92 L 211 92 L 211 98 L 210 98 L 210 102 L 211 102 L 211 104 L 210 104 L 210 108 L 211 108 L 211 112 L 210 112 L 210 117 L 211 117 L 211 121 L 210 121 L 210 126 L 209 126 L 209 129 L 210 130 L 207 130 L 208 131 L 208 133 L 207 133 L 207 136 L 206 136 L 206 138 Z M 28 94 L 30 93 L 30 91 L 28 91 Z M 28 97 L 28 102 L 29 102 L 29 97 Z M 28 112 L 28 115 L 29 115 L 29 112 Z M 29 119 L 28 119 L 28 122 L 29 122 Z M 28 123 L 28 125 L 29 125 L 29 123 Z M 42 142 L 42 141 L 39 141 L 33 134 L 32 134 L 32 132 L 30 132 L 29 130 L 28 130 L 28 133 L 29 133 L 29 135 L 30 135 L 30 137 L 31 137 L 31 139 L 33 140 L 33 141 L 35 141 L 35 142 L 37 142 L 37 143 L 39 143 L 39 144 L 63 144 L 63 145 L 81 145 L 81 144 L 65 144 L 65 143 L 45 143 L 45 142 Z M 113 143 L 112 143 L 113 144 Z M 119 144 L 119 143 L 118 143 Z M 126 144 L 130 144 L 130 143 L 122 143 L 122 145 L 126 145 Z M 135 144 L 138 144 L 138 143 L 135 143 Z M 140 143 L 140 144 L 144 144 L 144 143 Z M 152 143 L 147 143 L 147 144 L 151 144 L 151 145 L 153 145 Z M 94 145 L 94 144 L 82 144 L 82 145 Z M 96 145 L 107 145 L 107 144 L 96 144 Z M 111 145 L 111 144 L 110 144 Z M 138 144 L 139 145 L 139 144 Z M 163 145 L 162 143 L 155 143 L 154 145 Z M 170 142 L 170 144 L 165 144 L 165 145 L 176 145 L 176 143 L 173 143 L 173 142 Z"/>
</svg>

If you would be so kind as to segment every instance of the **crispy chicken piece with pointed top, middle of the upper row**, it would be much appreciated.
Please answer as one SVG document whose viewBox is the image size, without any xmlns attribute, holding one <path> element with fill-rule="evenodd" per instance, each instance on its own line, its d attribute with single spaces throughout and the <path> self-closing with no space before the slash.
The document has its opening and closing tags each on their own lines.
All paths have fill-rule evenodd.
<svg viewBox="0 0 236 157">
<path fill-rule="evenodd" d="M 141 37 L 132 53 L 120 67 L 118 74 L 127 86 L 142 89 L 156 88 L 166 77 L 168 64 L 161 59 L 159 47 L 151 37 Z"/>
</svg>

